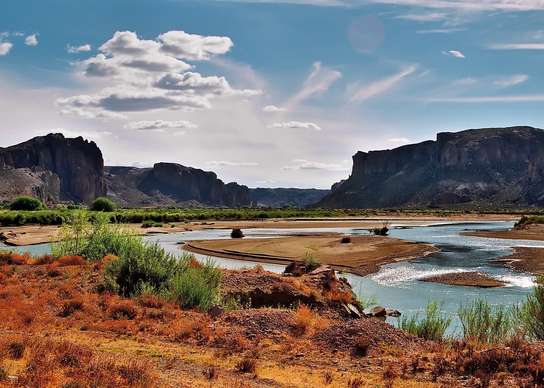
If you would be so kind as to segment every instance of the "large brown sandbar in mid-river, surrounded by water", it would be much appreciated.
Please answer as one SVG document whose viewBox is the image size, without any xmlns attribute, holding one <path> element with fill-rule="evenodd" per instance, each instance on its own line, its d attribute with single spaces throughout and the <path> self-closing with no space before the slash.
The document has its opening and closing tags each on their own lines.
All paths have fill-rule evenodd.
<svg viewBox="0 0 544 388">
<path fill-rule="evenodd" d="M 385 236 L 350 236 L 342 243 L 338 234 L 298 235 L 279 239 L 232 239 L 191 241 L 183 246 L 190 252 L 230 259 L 289 264 L 310 252 L 324 264 L 338 270 L 366 276 L 381 265 L 417 258 L 439 249 L 430 244 L 392 239 Z"/>
</svg>

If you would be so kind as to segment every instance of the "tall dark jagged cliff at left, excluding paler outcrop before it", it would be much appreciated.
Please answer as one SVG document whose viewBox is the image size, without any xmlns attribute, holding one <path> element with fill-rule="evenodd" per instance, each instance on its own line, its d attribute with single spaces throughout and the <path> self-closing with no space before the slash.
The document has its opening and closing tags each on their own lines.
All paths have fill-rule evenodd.
<svg viewBox="0 0 544 388">
<path fill-rule="evenodd" d="M 58 177 L 61 201 L 90 204 L 107 195 L 102 152 L 94 141 L 58 133 L 0 148 L 0 168 L 34 166 Z"/>
</svg>

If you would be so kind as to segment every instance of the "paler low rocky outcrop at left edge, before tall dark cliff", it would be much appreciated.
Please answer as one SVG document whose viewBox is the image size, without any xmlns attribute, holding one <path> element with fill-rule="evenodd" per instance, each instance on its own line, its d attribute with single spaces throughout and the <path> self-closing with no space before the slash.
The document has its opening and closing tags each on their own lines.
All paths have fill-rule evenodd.
<svg viewBox="0 0 544 388">
<path fill-rule="evenodd" d="M 59 177 L 40 167 L 0 170 L 0 201 L 11 202 L 21 195 L 38 198 L 48 205 L 57 205 L 60 203 Z"/>
</svg>

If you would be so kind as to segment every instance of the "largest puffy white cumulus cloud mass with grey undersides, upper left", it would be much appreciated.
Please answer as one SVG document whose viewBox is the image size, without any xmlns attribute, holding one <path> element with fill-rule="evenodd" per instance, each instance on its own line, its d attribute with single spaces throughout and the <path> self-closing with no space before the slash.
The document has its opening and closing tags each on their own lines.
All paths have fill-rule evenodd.
<svg viewBox="0 0 544 388">
<path fill-rule="evenodd" d="M 209 109 L 209 99 L 219 96 L 252 96 L 260 90 L 236 90 L 224 77 L 202 77 L 189 71 L 184 60 L 207 60 L 232 46 L 228 37 L 191 35 L 170 31 L 156 40 L 144 40 L 130 31 L 116 32 L 82 62 L 83 74 L 110 82 L 100 92 L 58 98 L 63 108 L 108 111 L 152 111 L 159 109 Z"/>
</svg>

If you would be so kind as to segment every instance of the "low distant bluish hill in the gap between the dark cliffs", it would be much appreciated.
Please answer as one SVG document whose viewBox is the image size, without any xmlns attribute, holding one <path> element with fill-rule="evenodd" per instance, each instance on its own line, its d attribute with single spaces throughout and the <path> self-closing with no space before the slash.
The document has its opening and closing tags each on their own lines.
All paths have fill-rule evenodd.
<svg viewBox="0 0 544 388">
<path fill-rule="evenodd" d="M 257 205 L 272 206 L 281 208 L 282 206 L 304 206 L 318 201 L 330 193 L 330 190 L 319 189 L 269 189 L 266 187 L 257 187 L 249 189 L 251 202 L 257 201 Z"/>
</svg>

